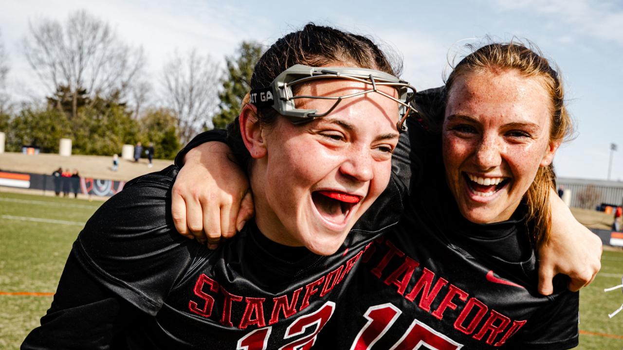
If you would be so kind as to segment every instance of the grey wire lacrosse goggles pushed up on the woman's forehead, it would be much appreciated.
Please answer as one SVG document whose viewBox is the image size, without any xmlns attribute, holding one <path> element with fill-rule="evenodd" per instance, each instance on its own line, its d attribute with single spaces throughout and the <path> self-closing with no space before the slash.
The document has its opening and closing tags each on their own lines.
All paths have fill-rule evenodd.
<svg viewBox="0 0 623 350">
<path fill-rule="evenodd" d="M 346 79 L 372 85 L 372 88 L 361 92 L 341 96 L 311 96 L 294 95 L 292 88 L 301 83 L 308 83 L 319 79 Z M 395 98 L 379 90 L 380 86 L 396 88 L 398 98 Z M 411 90 L 411 92 L 409 92 Z M 355 67 L 309 67 L 307 65 L 293 65 L 277 75 L 269 87 L 257 88 L 249 93 L 249 102 L 258 108 L 272 106 L 280 115 L 285 116 L 293 124 L 303 124 L 328 115 L 340 104 L 342 100 L 351 97 L 365 95 L 366 93 L 379 93 L 384 97 L 394 100 L 399 104 L 399 121 L 397 129 L 406 130 L 404 121 L 414 108 L 409 104 L 416 95 L 416 88 L 409 83 L 394 77 L 391 74 L 374 69 Z M 297 108 L 296 101 L 300 98 L 321 98 L 323 100 L 335 100 L 333 106 L 326 111 L 305 110 Z"/>
</svg>

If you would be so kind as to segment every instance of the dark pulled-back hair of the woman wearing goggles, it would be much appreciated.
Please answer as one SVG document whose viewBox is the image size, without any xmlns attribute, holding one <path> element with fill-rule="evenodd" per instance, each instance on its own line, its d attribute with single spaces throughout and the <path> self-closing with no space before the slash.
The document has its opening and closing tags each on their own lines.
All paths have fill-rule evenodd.
<svg viewBox="0 0 623 350">
<path fill-rule="evenodd" d="M 308 23 L 300 31 L 277 40 L 264 52 L 255 65 L 250 88 L 269 86 L 277 75 L 296 64 L 322 67 L 336 62 L 395 76 L 402 70 L 402 64 L 392 65 L 388 56 L 368 37 Z M 248 101 L 247 94 L 242 105 Z M 259 123 L 264 125 L 272 125 L 277 116 L 277 111 L 271 107 L 259 109 L 257 113 Z M 247 166 L 250 154 L 242 142 L 238 118 L 227 126 L 227 138 L 239 163 Z"/>
</svg>

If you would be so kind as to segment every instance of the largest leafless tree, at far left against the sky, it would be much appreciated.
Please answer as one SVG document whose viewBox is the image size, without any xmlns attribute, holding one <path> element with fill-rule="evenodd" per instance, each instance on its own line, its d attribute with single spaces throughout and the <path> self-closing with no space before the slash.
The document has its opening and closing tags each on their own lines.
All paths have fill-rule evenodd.
<svg viewBox="0 0 623 350">
<path fill-rule="evenodd" d="M 91 100 L 124 96 L 145 65 L 142 48 L 121 42 L 107 22 L 84 10 L 70 14 L 63 25 L 51 19 L 30 22 L 24 52 L 50 95 L 69 88 L 72 117 L 80 90 L 86 90 Z"/>
</svg>

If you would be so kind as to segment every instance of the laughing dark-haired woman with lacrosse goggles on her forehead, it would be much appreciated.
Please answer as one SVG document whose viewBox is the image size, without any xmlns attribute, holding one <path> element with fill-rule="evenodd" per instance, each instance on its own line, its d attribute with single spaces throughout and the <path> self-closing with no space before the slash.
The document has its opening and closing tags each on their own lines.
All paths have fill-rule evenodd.
<svg viewBox="0 0 623 350">
<path fill-rule="evenodd" d="M 277 40 L 250 85 L 230 141 L 255 219 L 209 250 L 174 228 L 176 166 L 128 182 L 80 232 L 22 349 L 312 346 L 379 235 L 351 229 L 388 186 L 413 88 L 368 38 L 313 25 Z"/>
</svg>

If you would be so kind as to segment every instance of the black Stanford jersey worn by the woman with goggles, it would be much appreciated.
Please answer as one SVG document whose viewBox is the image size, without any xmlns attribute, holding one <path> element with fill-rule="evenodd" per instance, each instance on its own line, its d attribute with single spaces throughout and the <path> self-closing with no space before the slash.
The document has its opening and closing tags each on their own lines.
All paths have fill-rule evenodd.
<svg viewBox="0 0 623 350">
<path fill-rule="evenodd" d="M 368 210 L 329 257 L 276 244 L 253 222 L 209 250 L 174 229 L 176 174 L 128 182 L 88 220 L 22 349 L 309 348 L 370 242 L 401 212 L 392 181 L 383 209 Z"/>
</svg>

